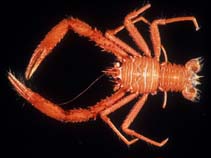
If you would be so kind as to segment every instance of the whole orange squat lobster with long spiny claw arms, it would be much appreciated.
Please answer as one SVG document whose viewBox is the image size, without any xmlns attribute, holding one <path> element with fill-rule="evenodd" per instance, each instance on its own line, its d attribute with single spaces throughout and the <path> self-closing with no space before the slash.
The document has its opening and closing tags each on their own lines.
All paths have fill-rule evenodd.
<svg viewBox="0 0 211 158">
<path fill-rule="evenodd" d="M 87 109 L 63 110 L 58 105 L 27 88 L 18 79 L 16 79 L 12 73 L 8 73 L 9 81 L 23 98 L 51 118 L 65 122 L 83 122 L 96 118 L 96 116 L 99 115 L 127 145 L 133 144 L 137 140 L 141 139 L 158 147 L 163 146 L 168 141 L 168 138 L 162 142 L 157 142 L 130 129 L 130 124 L 134 121 L 137 114 L 143 107 L 148 95 L 154 95 L 159 90 L 164 92 L 163 108 L 165 108 L 166 105 L 168 91 L 182 92 L 183 96 L 191 101 L 198 99 L 198 90 L 196 89 L 196 85 L 199 84 L 200 76 L 198 76 L 197 73 L 201 69 L 201 59 L 191 59 L 185 65 L 169 63 L 166 51 L 161 45 L 158 26 L 180 21 L 193 22 L 196 30 L 199 29 L 199 26 L 195 17 L 192 16 L 156 19 L 150 23 L 143 16 L 139 16 L 148 8 L 150 8 L 150 4 L 143 6 L 137 11 L 129 13 L 125 17 L 124 24 L 122 26 L 114 30 L 107 31 L 105 35 L 79 19 L 72 17 L 64 19 L 52 28 L 52 30 L 45 36 L 44 40 L 42 40 L 35 49 L 26 69 L 26 79 L 30 79 L 32 77 L 41 62 L 51 53 L 53 48 L 60 42 L 69 30 L 73 30 L 80 36 L 87 37 L 91 41 L 95 42 L 99 47 L 103 48 L 106 52 L 114 54 L 118 61 L 114 63 L 114 67 L 105 70 L 104 73 L 106 75 L 110 75 L 114 79 L 115 93 L 110 97 L 99 101 L 95 105 Z M 148 24 L 150 27 L 150 37 L 154 51 L 153 57 L 144 38 L 134 25 L 139 21 Z M 135 44 L 138 46 L 140 51 L 143 52 L 143 56 L 115 36 L 123 29 L 126 29 L 129 32 L 129 35 L 134 40 Z M 165 61 L 162 63 L 159 62 L 161 51 L 165 57 Z M 135 139 L 128 140 L 115 127 L 108 115 L 126 105 L 131 100 L 139 97 L 141 94 L 141 98 L 133 106 L 121 126 L 122 130 L 126 134 L 135 137 Z"/>
</svg>

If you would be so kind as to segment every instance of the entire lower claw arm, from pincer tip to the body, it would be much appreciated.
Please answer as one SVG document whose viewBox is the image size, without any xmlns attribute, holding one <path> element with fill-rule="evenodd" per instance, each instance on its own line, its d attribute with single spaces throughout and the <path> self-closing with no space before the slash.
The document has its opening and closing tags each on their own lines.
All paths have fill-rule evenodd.
<svg viewBox="0 0 211 158">
<path fill-rule="evenodd" d="M 84 122 L 88 121 L 89 119 L 94 119 L 100 111 L 107 107 L 110 107 L 125 95 L 125 90 L 120 89 L 112 96 L 101 100 L 96 105 L 93 105 L 90 108 L 63 110 L 58 105 L 52 103 L 38 93 L 33 92 L 31 89 L 27 88 L 11 73 L 8 73 L 8 79 L 13 85 L 14 89 L 18 92 L 18 94 L 21 95 L 28 102 L 30 102 L 37 110 L 53 119 L 65 122 Z"/>
</svg>

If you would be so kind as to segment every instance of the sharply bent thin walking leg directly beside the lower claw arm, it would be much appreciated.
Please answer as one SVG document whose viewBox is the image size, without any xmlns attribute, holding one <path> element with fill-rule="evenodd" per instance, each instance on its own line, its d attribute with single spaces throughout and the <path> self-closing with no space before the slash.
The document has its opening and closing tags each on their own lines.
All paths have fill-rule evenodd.
<svg viewBox="0 0 211 158">
<path fill-rule="evenodd" d="M 125 144 L 127 144 L 127 145 L 131 145 L 131 144 L 135 143 L 136 141 L 138 141 L 138 139 L 133 139 L 133 140 L 129 141 L 127 138 L 125 138 L 121 134 L 121 132 L 115 127 L 115 125 L 111 122 L 111 120 L 108 117 L 108 115 L 110 113 L 114 112 L 115 110 L 119 109 L 120 107 L 126 105 L 128 102 L 130 102 L 131 100 L 133 100 L 137 96 L 138 96 L 138 93 L 130 94 L 129 96 L 127 96 L 127 97 L 123 98 L 122 100 L 120 100 L 119 102 L 117 102 L 116 104 L 114 104 L 111 107 L 105 109 L 100 114 L 102 120 L 105 121 L 105 123 L 107 123 L 110 126 L 110 128 L 119 136 L 119 138 L 123 142 L 125 142 Z"/>
</svg>

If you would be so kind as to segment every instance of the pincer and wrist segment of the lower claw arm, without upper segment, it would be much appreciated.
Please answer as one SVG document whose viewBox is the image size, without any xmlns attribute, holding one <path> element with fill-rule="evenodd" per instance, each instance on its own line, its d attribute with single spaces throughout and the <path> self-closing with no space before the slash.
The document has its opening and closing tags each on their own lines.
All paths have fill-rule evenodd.
<svg viewBox="0 0 211 158">
<path fill-rule="evenodd" d="M 19 95 L 30 102 L 40 112 L 51 118 L 59 121 L 82 122 L 88 121 L 90 118 L 94 117 L 94 115 L 87 109 L 63 110 L 56 104 L 27 88 L 11 73 L 8 73 L 8 79 Z"/>
</svg>

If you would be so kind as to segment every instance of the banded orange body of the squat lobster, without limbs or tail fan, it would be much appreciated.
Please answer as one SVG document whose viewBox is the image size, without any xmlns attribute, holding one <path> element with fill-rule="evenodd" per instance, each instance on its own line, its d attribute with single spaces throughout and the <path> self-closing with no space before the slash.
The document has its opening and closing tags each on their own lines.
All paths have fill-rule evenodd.
<svg viewBox="0 0 211 158">
<path fill-rule="evenodd" d="M 116 64 L 107 69 L 106 74 L 113 76 L 116 87 L 130 92 L 154 93 L 161 91 L 183 91 L 195 83 L 193 72 L 184 65 L 160 64 L 155 58 L 128 58 L 122 65 Z"/>
</svg>

